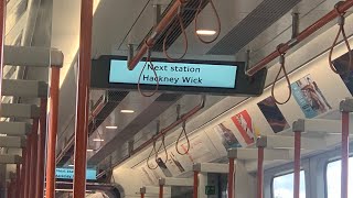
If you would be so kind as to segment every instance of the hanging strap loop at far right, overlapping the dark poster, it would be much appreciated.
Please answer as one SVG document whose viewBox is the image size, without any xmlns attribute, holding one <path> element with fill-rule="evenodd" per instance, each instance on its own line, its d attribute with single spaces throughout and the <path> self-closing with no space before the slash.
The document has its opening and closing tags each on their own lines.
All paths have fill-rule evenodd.
<svg viewBox="0 0 353 198">
<path fill-rule="evenodd" d="M 336 34 L 336 36 L 334 37 L 334 41 L 333 41 L 333 44 L 332 46 L 330 47 L 330 53 L 329 53 L 329 64 L 330 64 L 330 67 L 332 69 L 333 73 L 335 74 L 339 74 L 339 75 L 342 75 L 342 74 L 346 74 L 349 73 L 350 70 L 352 70 L 352 52 L 351 52 L 351 45 L 349 43 L 349 37 L 346 36 L 345 34 L 345 29 L 344 29 L 344 24 L 345 24 L 345 18 L 344 18 L 344 14 L 345 12 L 340 12 L 339 10 L 339 6 L 342 3 L 343 1 L 340 1 L 338 2 L 335 6 L 334 6 L 334 9 L 336 11 L 336 13 L 339 13 L 339 18 L 338 18 L 338 25 L 340 26 L 339 29 L 339 32 Z M 332 62 L 332 55 L 333 55 L 333 50 L 334 47 L 338 45 L 338 41 L 339 41 L 339 37 L 342 33 L 342 36 L 343 36 L 343 41 L 344 41 L 344 44 L 349 51 L 349 66 L 346 68 L 344 68 L 342 72 L 339 72 L 334 65 L 333 65 L 333 62 Z"/>
</svg>

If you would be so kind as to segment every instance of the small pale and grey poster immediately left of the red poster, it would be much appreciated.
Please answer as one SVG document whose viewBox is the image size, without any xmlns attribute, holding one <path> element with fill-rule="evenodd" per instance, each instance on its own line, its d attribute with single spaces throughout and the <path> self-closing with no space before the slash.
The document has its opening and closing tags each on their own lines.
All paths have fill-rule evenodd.
<svg viewBox="0 0 353 198">
<path fill-rule="evenodd" d="M 232 121 L 225 121 L 214 128 L 215 133 L 221 139 L 223 146 L 228 150 L 232 147 L 242 147 L 232 129 Z"/>
</svg>

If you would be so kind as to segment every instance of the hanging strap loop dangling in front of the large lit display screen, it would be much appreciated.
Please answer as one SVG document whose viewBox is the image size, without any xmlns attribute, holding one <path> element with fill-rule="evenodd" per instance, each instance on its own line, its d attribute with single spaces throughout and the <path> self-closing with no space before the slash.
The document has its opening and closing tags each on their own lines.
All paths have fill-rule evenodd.
<svg viewBox="0 0 353 198">
<path fill-rule="evenodd" d="M 149 46 L 146 41 L 145 41 L 145 44 L 148 46 L 148 52 L 147 52 L 147 57 L 146 57 L 145 65 L 143 65 L 142 70 L 140 73 L 139 80 L 137 82 L 137 89 L 140 92 L 140 95 L 142 95 L 143 97 L 152 97 L 158 92 L 158 89 L 159 89 L 159 77 L 158 77 L 156 68 L 153 66 L 153 63 L 151 61 L 151 48 L 150 48 L 151 46 Z M 142 75 L 143 75 L 143 72 L 145 72 L 146 67 L 151 69 L 153 72 L 153 74 L 154 74 L 154 77 L 156 77 L 156 87 L 154 87 L 154 90 L 151 94 L 146 94 L 141 89 L 141 78 L 142 78 Z"/>
</svg>

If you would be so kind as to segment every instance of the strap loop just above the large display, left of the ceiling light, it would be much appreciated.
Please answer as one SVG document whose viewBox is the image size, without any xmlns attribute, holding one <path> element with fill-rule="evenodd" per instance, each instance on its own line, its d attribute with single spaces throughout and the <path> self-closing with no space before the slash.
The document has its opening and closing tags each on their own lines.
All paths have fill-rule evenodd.
<svg viewBox="0 0 353 198">
<path fill-rule="evenodd" d="M 180 57 L 178 57 L 178 58 L 173 58 L 173 57 L 171 57 L 171 56 L 168 54 L 168 52 L 167 52 L 167 51 L 168 51 L 168 50 L 167 50 L 167 41 L 168 41 L 168 37 L 169 37 L 169 35 L 171 34 L 171 32 L 174 30 L 173 25 L 171 25 L 171 26 L 169 28 L 165 36 L 164 36 L 164 40 L 163 40 L 163 53 L 164 53 L 164 56 L 167 57 L 167 59 L 168 59 L 169 62 L 180 62 L 182 58 L 185 57 L 185 55 L 186 55 L 186 53 L 188 53 L 188 50 L 189 50 L 189 41 L 188 41 L 188 35 L 186 35 L 186 31 L 185 31 L 185 25 L 184 25 L 184 22 L 183 22 L 183 18 L 182 18 L 182 15 L 181 15 L 181 12 L 182 12 L 182 11 L 181 11 L 181 10 L 182 10 L 181 7 L 182 7 L 182 6 L 179 7 L 179 12 L 178 12 L 178 14 L 176 14 L 176 19 L 178 19 L 178 23 L 179 23 L 179 25 L 180 25 L 181 33 L 182 33 L 182 35 L 183 35 L 184 52 L 183 52 L 183 54 L 182 54 Z M 176 25 L 178 25 L 178 24 L 176 24 Z"/>
</svg>

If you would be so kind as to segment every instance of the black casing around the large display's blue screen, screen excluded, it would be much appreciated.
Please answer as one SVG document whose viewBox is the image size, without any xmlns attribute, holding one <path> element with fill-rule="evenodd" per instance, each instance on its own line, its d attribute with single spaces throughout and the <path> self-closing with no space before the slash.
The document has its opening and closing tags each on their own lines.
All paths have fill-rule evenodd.
<svg viewBox="0 0 353 198">
<path fill-rule="evenodd" d="M 114 89 L 114 90 L 137 90 L 136 84 L 109 82 L 110 63 L 113 59 L 126 61 L 125 56 L 101 56 L 92 63 L 90 85 L 94 89 Z M 141 62 L 145 62 L 142 59 Z M 162 58 L 152 58 L 152 62 L 168 62 Z M 183 59 L 180 63 L 190 64 L 210 64 L 210 65 L 229 65 L 237 66 L 235 76 L 235 88 L 217 87 L 195 87 L 195 86 L 159 86 L 159 92 L 181 92 L 181 94 L 211 94 L 222 96 L 258 96 L 263 94 L 267 69 L 263 69 L 253 77 L 246 76 L 245 63 L 243 62 L 218 62 L 218 61 L 195 61 Z M 140 85 L 145 91 L 156 89 L 154 85 Z"/>
</svg>

